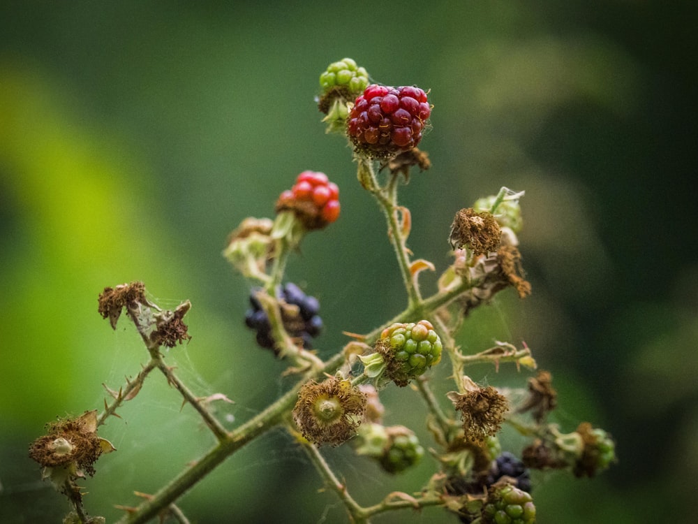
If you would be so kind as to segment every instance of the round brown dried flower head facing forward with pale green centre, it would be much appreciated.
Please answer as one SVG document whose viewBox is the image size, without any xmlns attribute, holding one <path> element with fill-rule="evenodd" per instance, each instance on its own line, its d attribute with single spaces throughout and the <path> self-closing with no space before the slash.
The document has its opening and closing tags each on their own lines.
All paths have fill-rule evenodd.
<svg viewBox="0 0 698 524">
<path fill-rule="evenodd" d="M 329 377 L 302 386 L 293 419 L 306 439 L 339 446 L 353 437 L 366 411 L 366 395 L 348 380 Z"/>
</svg>

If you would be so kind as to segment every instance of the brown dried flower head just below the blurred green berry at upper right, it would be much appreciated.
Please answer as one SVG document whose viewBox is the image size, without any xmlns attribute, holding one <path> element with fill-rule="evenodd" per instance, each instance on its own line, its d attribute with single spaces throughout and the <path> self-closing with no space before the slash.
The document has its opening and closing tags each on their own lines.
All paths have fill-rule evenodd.
<svg viewBox="0 0 698 524">
<path fill-rule="evenodd" d="M 449 242 L 453 249 L 468 246 L 473 255 L 477 256 L 496 251 L 501 238 L 502 231 L 490 212 L 465 208 L 453 218 Z"/>
</svg>

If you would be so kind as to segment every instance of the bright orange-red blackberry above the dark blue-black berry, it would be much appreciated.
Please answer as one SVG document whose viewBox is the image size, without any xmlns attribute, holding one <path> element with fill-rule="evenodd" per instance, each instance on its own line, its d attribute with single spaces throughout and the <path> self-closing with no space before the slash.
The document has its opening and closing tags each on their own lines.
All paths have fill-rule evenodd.
<svg viewBox="0 0 698 524">
<path fill-rule="evenodd" d="M 339 218 L 339 187 L 325 173 L 303 171 L 291 189 L 281 193 L 276 210 L 292 210 L 308 229 L 319 229 Z"/>
</svg>

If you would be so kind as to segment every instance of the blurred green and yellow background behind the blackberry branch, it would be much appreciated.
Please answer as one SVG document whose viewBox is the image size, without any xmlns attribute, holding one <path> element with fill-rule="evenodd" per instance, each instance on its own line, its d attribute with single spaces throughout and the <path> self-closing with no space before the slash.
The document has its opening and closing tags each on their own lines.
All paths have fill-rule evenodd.
<svg viewBox="0 0 698 524">
<path fill-rule="evenodd" d="M 402 201 L 409 245 L 437 272 L 456 210 L 503 185 L 526 190 L 533 296 L 503 293 L 459 342 L 525 340 L 554 374 L 563 430 L 601 426 L 620 459 L 591 480 L 535 476 L 538 522 L 686 521 L 698 474 L 696 14 L 652 1 L 3 2 L 0 521 L 60 521 L 66 503 L 40 481 L 29 442 L 56 416 L 101 409 L 101 384 L 118 388 L 146 361 L 131 326 L 114 333 L 98 316 L 104 286 L 140 279 L 165 307 L 191 300 L 193 339 L 168 358 L 198 393 L 235 400 L 220 407 L 230 427 L 285 391 L 283 365 L 243 326 L 248 284 L 221 249 L 244 217 L 272 216 L 300 171 L 341 187 L 341 219 L 288 271 L 320 298 L 320 356 L 346 342 L 342 330 L 402 309 L 383 218 L 313 101 L 343 57 L 376 81 L 431 89 L 433 168 Z M 472 376 L 520 386 L 529 374 Z M 101 428 L 118 451 L 84 483 L 91 514 L 114 521 L 113 504 L 137 504 L 134 490 L 155 491 L 211 446 L 163 382 Z M 423 425 L 414 392 L 389 388 L 384 401 L 387 423 Z M 514 435 L 504 442 L 519 451 Z M 419 490 L 434 467 L 388 478 L 349 449 L 326 454 L 364 504 Z M 345 521 L 321 487 L 273 432 L 180 505 L 198 523 Z M 376 521 L 457 519 L 425 509 Z"/>
</svg>

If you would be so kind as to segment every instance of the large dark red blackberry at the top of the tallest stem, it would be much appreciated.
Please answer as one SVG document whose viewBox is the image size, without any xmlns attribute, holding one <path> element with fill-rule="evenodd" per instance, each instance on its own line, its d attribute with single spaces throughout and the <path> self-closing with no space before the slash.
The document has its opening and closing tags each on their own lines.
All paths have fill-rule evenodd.
<svg viewBox="0 0 698 524">
<path fill-rule="evenodd" d="M 392 157 L 411 150 L 419 140 L 431 106 L 423 89 L 369 85 L 347 119 L 347 135 L 359 154 Z"/>
</svg>

